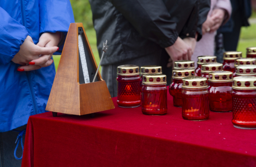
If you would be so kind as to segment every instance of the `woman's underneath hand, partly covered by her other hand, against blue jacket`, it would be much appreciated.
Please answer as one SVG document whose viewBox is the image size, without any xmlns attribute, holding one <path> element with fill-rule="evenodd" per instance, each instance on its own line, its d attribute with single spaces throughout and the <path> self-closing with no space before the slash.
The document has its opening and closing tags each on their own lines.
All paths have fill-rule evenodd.
<svg viewBox="0 0 256 167">
<path fill-rule="evenodd" d="M 56 33 L 43 33 L 41 37 L 39 38 L 39 42 L 37 43 L 36 46 L 39 46 L 41 48 L 55 48 L 54 52 L 58 51 L 59 48 L 56 47 L 58 46 L 58 43 L 60 41 L 61 34 L 60 32 Z M 57 49 L 56 49 L 57 48 Z M 40 57 L 34 58 L 34 60 L 31 60 L 29 62 L 28 66 L 20 66 L 18 68 L 22 68 L 25 71 L 31 71 L 31 70 L 37 70 L 41 67 L 48 67 L 53 63 L 53 60 L 51 59 L 51 56 L 53 55 L 54 52 L 49 52 L 49 53 L 41 53 Z"/>
</svg>

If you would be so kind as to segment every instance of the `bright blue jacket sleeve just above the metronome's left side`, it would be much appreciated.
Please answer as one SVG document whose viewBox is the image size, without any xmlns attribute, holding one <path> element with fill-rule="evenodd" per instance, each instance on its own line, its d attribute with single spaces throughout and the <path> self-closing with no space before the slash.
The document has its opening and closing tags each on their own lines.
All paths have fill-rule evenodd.
<svg viewBox="0 0 256 167">
<path fill-rule="evenodd" d="M 45 32 L 63 32 L 65 38 L 70 23 L 74 23 L 73 10 L 69 0 L 39 1 L 40 35 Z M 62 50 L 64 43 L 60 46 Z"/>
</svg>

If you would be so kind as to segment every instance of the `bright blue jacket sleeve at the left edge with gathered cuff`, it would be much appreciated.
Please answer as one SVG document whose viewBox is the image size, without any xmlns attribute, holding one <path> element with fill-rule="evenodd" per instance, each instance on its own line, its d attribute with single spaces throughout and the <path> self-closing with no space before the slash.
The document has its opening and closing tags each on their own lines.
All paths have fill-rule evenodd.
<svg viewBox="0 0 256 167">
<path fill-rule="evenodd" d="M 0 63 L 10 62 L 29 35 L 26 28 L 0 7 Z"/>
</svg>

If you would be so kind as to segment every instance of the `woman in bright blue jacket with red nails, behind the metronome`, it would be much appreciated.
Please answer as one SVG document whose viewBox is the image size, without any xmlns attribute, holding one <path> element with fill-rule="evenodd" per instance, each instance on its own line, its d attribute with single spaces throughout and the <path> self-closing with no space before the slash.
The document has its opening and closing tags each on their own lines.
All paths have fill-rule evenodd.
<svg viewBox="0 0 256 167">
<path fill-rule="evenodd" d="M 0 166 L 16 167 L 16 139 L 24 141 L 29 116 L 45 112 L 55 76 L 51 56 L 61 53 L 74 16 L 68 0 L 0 0 L 0 16 Z"/>
</svg>

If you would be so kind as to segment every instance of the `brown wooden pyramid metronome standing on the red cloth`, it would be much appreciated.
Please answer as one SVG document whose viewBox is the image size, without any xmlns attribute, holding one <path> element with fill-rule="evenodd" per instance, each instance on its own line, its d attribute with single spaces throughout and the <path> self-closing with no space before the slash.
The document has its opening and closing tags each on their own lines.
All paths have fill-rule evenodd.
<svg viewBox="0 0 256 167">
<path fill-rule="evenodd" d="M 57 116 L 57 112 L 85 115 L 114 109 L 99 72 L 93 82 L 97 67 L 83 24 L 71 23 L 46 110 Z"/>
</svg>

